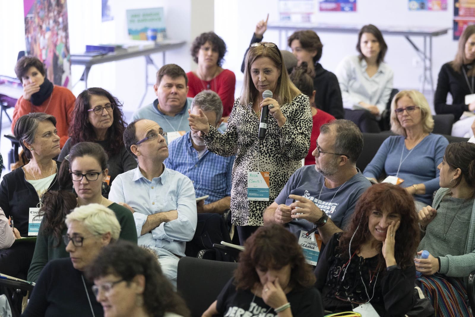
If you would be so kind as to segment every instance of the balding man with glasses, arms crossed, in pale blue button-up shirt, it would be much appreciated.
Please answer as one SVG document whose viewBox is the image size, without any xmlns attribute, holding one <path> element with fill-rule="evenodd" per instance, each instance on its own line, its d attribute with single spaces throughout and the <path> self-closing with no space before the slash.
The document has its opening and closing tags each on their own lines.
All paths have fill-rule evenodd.
<svg viewBox="0 0 475 317">
<path fill-rule="evenodd" d="M 163 164 L 168 157 L 165 136 L 148 119 L 125 128 L 125 148 L 138 166 L 115 178 L 109 199 L 133 210 L 138 244 L 157 251 L 163 274 L 176 285 L 178 260 L 196 230 L 196 198 L 190 178 Z"/>
</svg>

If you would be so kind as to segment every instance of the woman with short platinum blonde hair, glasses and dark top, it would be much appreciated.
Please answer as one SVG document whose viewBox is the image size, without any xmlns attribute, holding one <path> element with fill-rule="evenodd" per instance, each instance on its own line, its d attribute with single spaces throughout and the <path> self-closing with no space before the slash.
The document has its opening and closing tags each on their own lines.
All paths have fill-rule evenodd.
<svg viewBox="0 0 475 317">
<path fill-rule="evenodd" d="M 84 271 L 104 246 L 119 238 L 119 221 L 111 209 L 90 204 L 67 215 L 66 226 L 61 241 L 69 258 L 52 260 L 44 267 L 21 316 L 104 316 Z"/>
</svg>

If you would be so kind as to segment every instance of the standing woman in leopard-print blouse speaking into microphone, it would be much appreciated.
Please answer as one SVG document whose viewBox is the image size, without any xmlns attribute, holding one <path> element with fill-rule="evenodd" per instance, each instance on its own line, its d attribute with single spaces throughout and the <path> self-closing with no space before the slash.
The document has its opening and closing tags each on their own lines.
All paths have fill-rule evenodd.
<svg viewBox="0 0 475 317">
<path fill-rule="evenodd" d="M 251 44 L 245 64 L 243 90 L 234 101 L 224 134 L 211 127 L 201 111 L 189 118 L 190 129 L 201 131 L 209 151 L 236 155 L 231 222 L 237 225 L 241 245 L 264 224 L 264 209 L 301 167 L 312 131 L 309 99 L 290 81 L 277 45 Z M 272 97 L 263 96 L 266 90 L 272 92 Z M 259 119 L 265 108 L 269 111 L 266 135 L 259 140 Z"/>
</svg>

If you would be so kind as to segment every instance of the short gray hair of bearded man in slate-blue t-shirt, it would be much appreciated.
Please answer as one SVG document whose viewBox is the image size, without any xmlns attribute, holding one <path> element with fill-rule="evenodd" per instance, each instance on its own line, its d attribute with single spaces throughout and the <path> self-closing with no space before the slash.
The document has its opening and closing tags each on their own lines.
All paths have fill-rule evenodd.
<svg viewBox="0 0 475 317">
<path fill-rule="evenodd" d="M 345 119 L 333 120 L 320 127 L 320 133 L 328 134 L 331 131 L 335 135 L 333 150 L 348 156 L 350 161 L 356 164 L 363 151 L 363 134 L 360 128 L 353 121 Z"/>
</svg>

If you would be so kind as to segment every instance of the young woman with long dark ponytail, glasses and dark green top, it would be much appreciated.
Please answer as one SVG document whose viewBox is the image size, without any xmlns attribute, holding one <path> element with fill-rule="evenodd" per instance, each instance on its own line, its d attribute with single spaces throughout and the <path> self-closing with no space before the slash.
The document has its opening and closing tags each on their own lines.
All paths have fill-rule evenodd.
<svg viewBox="0 0 475 317">
<path fill-rule="evenodd" d="M 102 183 L 107 172 L 107 155 L 99 144 L 80 142 L 72 147 L 59 170 L 59 182 L 63 190 L 46 195 L 44 207 L 40 209 L 43 219 L 28 271 L 29 281 L 38 279 L 48 261 L 67 257 L 61 235 L 66 231 L 64 219 L 76 205 L 96 203 L 111 209 L 121 225 L 120 238 L 137 243 L 132 213 L 102 195 Z M 69 192 L 71 186 L 76 191 L 77 199 Z"/>
</svg>

